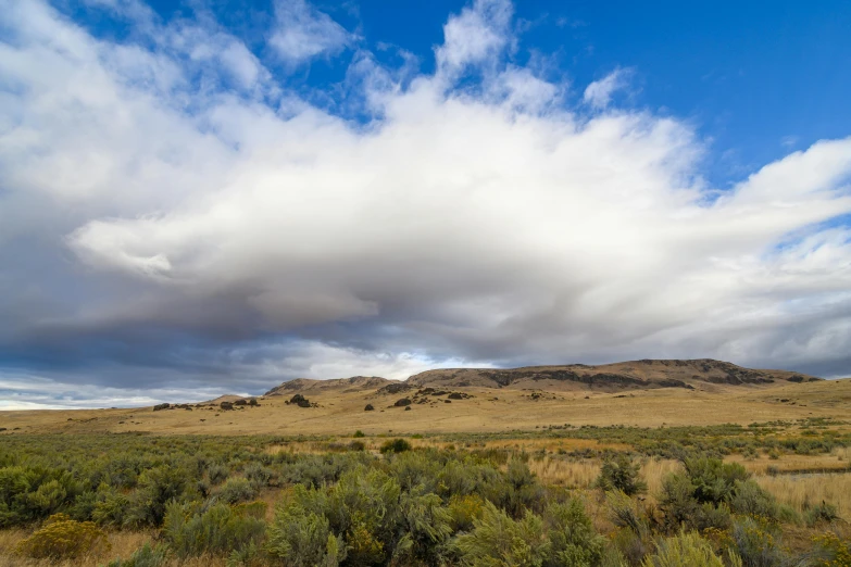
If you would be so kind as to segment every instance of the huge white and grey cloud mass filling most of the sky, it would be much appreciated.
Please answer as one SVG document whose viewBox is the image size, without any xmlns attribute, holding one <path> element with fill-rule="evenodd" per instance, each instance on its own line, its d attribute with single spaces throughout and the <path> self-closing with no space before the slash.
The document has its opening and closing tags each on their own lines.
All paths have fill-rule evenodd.
<svg viewBox="0 0 851 567">
<path fill-rule="evenodd" d="M 718 191 L 687 123 L 608 109 L 599 84 L 586 114 L 508 63 L 505 2 L 449 20 L 434 75 L 359 53 L 345 96 L 368 123 L 209 22 L 137 7 L 158 39 L 113 43 L 41 2 L 1 13 L 7 361 L 234 390 L 447 361 L 850 368 L 851 231 L 831 219 L 851 212 L 851 139 Z M 299 58 L 337 48 L 316 49 Z M 479 86 L 455 88 L 471 68 Z"/>
</svg>

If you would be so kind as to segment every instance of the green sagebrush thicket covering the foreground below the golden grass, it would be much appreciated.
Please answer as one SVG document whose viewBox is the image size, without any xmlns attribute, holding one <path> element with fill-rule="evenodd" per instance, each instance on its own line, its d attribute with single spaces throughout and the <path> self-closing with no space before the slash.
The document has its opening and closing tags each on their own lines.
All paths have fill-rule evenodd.
<svg viewBox="0 0 851 567">
<path fill-rule="evenodd" d="M 659 433 L 622 434 L 640 445 Z M 848 565 L 837 507 L 778 503 L 719 457 L 724 436 L 680 446 L 653 483 L 635 446 L 610 450 L 584 489 L 542 482 L 543 457 L 522 448 L 353 437 L 5 437 L 0 526 L 23 530 L 8 553 L 96 550 L 109 567 Z M 126 530 L 157 543 L 116 558 L 110 534 Z"/>
</svg>

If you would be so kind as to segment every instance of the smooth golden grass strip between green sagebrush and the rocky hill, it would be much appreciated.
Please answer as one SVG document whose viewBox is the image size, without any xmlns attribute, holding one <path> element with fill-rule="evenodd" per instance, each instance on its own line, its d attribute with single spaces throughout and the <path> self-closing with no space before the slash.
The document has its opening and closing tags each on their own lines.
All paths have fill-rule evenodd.
<svg viewBox="0 0 851 567">
<path fill-rule="evenodd" d="M 774 387 L 715 387 L 714 391 L 680 388 L 598 393 L 559 392 L 531 400 L 531 390 L 453 388 L 472 394 L 451 404 L 392 407 L 404 394 L 377 395 L 375 390 L 309 392 L 320 407 L 285 403 L 288 396 L 260 400 L 260 407 L 166 410 L 74 410 L 0 412 L 5 433 L 127 432 L 153 434 L 345 434 L 446 433 L 534 429 L 548 425 L 626 425 L 640 427 L 704 426 L 851 417 L 851 379 Z M 780 400 L 786 400 L 781 402 Z M 364 412 L 365 404 L 375 406 Z M 16 429 L 17 428 L 17 429 Z"/>
</svg>

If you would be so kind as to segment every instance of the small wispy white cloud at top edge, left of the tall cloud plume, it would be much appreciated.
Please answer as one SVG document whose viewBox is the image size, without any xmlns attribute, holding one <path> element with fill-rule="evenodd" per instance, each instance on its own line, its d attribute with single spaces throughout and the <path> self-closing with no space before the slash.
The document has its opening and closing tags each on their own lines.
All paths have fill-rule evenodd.
<svg viewBox="0 0 851 567">
<path fill-rule="evenodd" d="M 304 0 L 278 0 L 277 29 L 268 43 L 290 65 L 318 55 L 333 55 L 351 46 L 355 37 Z"/>
</svg>

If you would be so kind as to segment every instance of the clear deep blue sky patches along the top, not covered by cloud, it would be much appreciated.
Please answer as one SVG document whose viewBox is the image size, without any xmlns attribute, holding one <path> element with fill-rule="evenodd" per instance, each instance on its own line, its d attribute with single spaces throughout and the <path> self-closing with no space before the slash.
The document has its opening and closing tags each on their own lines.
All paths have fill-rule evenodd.
<svg viewBox="0 0 851 567">
<path fill-rule="evenodd" d="M 151 2 L 164 20 L 209 10 L 259 56 L 273 26 L 274 2 Z M 398 65 L 395 49 L 434 72 L 433 49 L 449 14 L 463 1 L 317 2 L 358 41 L 340 56 L 320 59 L 297 73 L 277 70 L 281 81 L 327 87 L 343 79 L 352 51 L 371 50 Z M 842 112 L 851 93 L 851 5 L 824 2 L 548 2 L 514 7 L 517 48 L 511 58 L 546 61 L 547 75 L 566 79 L 574 97 L 615 68 L 633 72 L 620 101 L 631 108 L 692 121 L 712 142 L 706 175 L 719 186 L 742 173 L 824 138 L 851 131 Z M 114 22 L 82 17 L 96 35 Z M 274 64 L 271 65 L 274 71 Z"/>
</svg>

